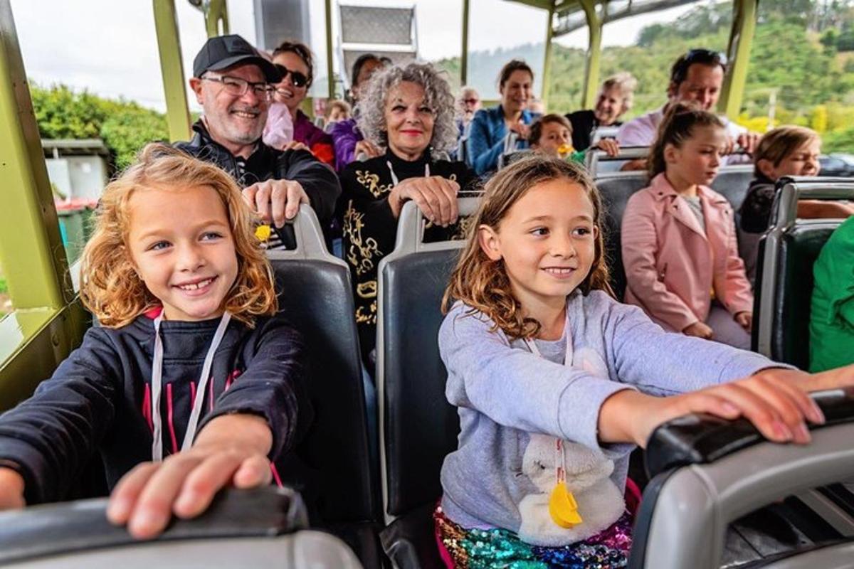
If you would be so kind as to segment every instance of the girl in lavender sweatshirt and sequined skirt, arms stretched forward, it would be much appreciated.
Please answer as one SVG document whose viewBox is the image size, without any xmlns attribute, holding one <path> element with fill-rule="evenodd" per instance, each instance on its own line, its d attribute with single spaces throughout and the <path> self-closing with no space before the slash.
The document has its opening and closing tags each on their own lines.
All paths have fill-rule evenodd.
<svg viewBox="0 0 854 569">
<path fill-rule="evenodd" d="M 806 390 L 845 381 L 665 333 L 619 304 L 601 216 L 590 178 L 564 160 L 520 160 L 486 184 L 439 332 L 461 428 L 434 514 L 447 566 L 625 566 L 629 452 L 653 428 L 745 415 L 806 443 L 804 421 L 823 421 Z"/>
</svg>

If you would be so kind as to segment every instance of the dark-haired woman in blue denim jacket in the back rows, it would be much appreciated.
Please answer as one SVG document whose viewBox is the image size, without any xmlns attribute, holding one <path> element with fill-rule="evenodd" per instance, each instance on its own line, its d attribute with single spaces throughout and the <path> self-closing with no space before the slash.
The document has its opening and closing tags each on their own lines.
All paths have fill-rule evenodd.
<svg viewBox="0 0 854 569">
<path fill-rule="evenodd" d="M 500 104 L 477 111 L 475 118 L 471 119 L 466 155 L 478 175 L 483 176 L 498 168 L 508 131 L 518 135 L 518 148 L 527 147 L 528 125 L 539 116 L 528 110 L 533 84 L 534 72 L 524 61 L 514 59 L 501 67 L 498 79 Z"/>
</svg>

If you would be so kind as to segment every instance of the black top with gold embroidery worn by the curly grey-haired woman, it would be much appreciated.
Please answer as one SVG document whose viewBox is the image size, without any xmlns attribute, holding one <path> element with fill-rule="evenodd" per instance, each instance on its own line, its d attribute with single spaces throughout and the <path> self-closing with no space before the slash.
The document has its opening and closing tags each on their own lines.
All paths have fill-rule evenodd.
<svg viewBox="0 0 854 569">
<path fill-rule="evenodd" d="M 432 160 L 430 151 L 419 160 L 407 161 L 387 151 L 365 162 L 352 162 L 341 173 L 344 258 L 353 276 L 356 323 L 362 357 L 376 345 L 377 266 L 380 259 L 395 248 L 397 219 L 389 206 L 389 193 L 395 183 L 410 177 L 441 176 L 459 183 L 461 190 L 475 189 L 477 176 L 464 162 Z M 459 224 L 458 224 L 459 225 Z M 442 241 L 459 232 L 458 225 L 433 227 L 428 224 L 424 241 Z"/>
</svg>

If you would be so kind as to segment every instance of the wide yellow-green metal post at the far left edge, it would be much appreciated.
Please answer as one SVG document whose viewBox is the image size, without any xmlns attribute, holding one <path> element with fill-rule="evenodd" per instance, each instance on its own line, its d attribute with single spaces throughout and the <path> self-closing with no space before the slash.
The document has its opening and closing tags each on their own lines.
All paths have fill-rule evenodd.
<svg viewBox="0 0 854 569">
<path fill-rule="evenodd" d="M 0 0 L 0 258 L 15 310 L 64 306 L 65 252 L 20 57 L 10 0 Z"/>
</svg>

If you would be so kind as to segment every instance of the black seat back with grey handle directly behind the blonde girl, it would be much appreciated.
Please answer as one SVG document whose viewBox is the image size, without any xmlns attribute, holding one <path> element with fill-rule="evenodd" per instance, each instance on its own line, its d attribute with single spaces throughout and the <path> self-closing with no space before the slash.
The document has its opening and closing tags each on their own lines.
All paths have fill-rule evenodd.
<svg viewBox="0 0 854 569">
<path fill-rule="evenodd" d="M 280 291 L 279 308 L 299 328 L 308 348 L 306 386 L 313 420 L 295 449 L 292 468 L 279 474 L 317 508 L 324 525 L 379 521 L 349 270 L 326 252 L 308 206 L 301 207 L 294 229 L 295 251 L 268 256 Z"/>
</svg>

